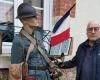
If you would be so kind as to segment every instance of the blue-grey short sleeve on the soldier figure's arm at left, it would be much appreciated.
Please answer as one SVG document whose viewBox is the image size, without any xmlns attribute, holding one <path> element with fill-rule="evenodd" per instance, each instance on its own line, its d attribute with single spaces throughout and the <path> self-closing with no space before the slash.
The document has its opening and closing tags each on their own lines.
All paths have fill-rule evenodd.
<svg viewBox="0 0 100 80">
<path fill-rule="evenodd" d="M 22 52 L 23 48 L 20 46 L 19 37 L 16 36 L 13 40 L 13 45 L 11 49 L 11 64 L 18 64 L 23 61 Z"/>
</svg>

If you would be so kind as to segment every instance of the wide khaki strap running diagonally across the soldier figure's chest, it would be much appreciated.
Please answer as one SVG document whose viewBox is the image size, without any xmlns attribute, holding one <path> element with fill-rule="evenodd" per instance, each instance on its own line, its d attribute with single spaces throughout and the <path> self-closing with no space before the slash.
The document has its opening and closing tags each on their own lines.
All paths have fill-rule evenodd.
<svg viewBox="0 0 100 80">
<path fill-rule="evenodd" d="M 61 76 L 62 75 L 62 72 L 61 70 L 58 68 L 57 65 L 55 65 L 47 56 L 47 53 L 46 51 L 41 48 L 41 46 L 38 44 L 36 45 L 36 39 L 31 37 L 27 32 L 25 32 L 24 30 L 21 31 L 21 33 L 26 36 L 30 41 L 31 43 L 34 45 L 34 47 L 36 47 L 39 51 L 40 51 L 40 54 L 43 56 L 43 58 L 45 59 L 45 61 L 48 63 L 49 65 L 49 68 L 53 68 L 54 70 L 56 70 L 57 72 L 57 76 Z M 51 70 L 52 71 L 52 70 Z"/>
</svg>

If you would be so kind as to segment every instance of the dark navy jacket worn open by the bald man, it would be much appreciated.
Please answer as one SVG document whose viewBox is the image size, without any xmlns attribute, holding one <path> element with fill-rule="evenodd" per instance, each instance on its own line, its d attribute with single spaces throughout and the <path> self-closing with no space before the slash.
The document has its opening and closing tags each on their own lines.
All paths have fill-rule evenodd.
<svg viewBox="0 0 100 80">
<path fill-rule="evenodd" d="M 76 56 L 72 60 L 64 62 L 63 68 L 72 68 L 76 66 L 76 80 L 80 80 L 82 64 L 88 46 L 88 40 L 86 40 L 79 45 Z M 100 80 L 100 39 L 94 43 L 91 53 L 93 54 L 93 80 Z"/>
</svg>

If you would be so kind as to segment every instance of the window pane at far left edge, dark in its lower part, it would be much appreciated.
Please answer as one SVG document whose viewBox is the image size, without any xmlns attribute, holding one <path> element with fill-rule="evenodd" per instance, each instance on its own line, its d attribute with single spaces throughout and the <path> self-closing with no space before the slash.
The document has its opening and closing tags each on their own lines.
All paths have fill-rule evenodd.
<svg viewBox="0 0 100 80">
<path fill-rule="evenodd" d="M 3 42 L 12 42 L 14 37 L 13 1 L 0 1 L 0 32 Z"/>
</svg>

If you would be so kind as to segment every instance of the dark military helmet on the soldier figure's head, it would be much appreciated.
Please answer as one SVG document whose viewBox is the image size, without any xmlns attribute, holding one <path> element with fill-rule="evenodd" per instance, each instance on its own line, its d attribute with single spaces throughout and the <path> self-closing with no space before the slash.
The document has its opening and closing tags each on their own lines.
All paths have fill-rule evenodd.
<svg viewBox="0 0 100 80">
<path fill-rule="evenodd" d="M 17 18 L 27 18 L 37 16 L 35 8 L 33 8 L 29 3 L 22 3 L 17 9 Z"/>
</svg>

